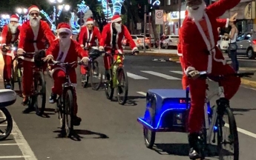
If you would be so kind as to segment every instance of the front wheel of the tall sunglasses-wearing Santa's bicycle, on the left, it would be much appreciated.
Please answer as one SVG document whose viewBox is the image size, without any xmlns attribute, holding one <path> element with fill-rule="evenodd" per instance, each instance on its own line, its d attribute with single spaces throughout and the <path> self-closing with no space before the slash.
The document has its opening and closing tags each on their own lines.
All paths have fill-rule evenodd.
<svg viewBox="0 0 256 160">
<path fill-rule="evenodd" d="M 45 112 L 45 102 L 46 102 L 46 87 L 45 79 L 43 73 L 36 72 L 34 77 L 34 89 L 36 91 L 34 107 L 36 109 L 36 114 L 42 116 Z"/>
</svg>

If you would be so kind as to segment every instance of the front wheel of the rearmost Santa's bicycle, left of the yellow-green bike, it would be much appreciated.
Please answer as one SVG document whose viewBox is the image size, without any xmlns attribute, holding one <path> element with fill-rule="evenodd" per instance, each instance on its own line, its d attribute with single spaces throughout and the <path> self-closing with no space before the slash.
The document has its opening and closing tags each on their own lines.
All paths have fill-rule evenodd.
<svg viewBox="0 0 256 160">
<path fill-rule="evenodd" d="M 99 63 L 94 60 L 91 64 L 91 89 L 99 90 L 102 84 L 102 72 L 99 71 Z"/>
</svg>

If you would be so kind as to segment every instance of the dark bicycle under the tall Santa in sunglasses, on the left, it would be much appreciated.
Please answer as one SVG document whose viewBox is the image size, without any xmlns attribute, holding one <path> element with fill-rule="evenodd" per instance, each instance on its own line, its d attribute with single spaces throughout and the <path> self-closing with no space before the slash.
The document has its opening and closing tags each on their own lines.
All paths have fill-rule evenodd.
<svg viewBox="0 0 256 160">
<path fill-rule="evenodd" d="M 36 53 L 23 53 L 19 59 L 24 59 L 24 56 L 33 56 L 35 63 L 33 64 L 33 84 L 31 85 L 31 95 L 28 97 L 28 107 L 35 107 L 36 115 L 42 116 L 45 112 L 46 103 L 46 81 L 43 74 L 43 61 L 42 56 L 45 55 L 45 50 L 39 50 Z M 21 57 L 22 56 L 22 57 Z M 39 96 L 41 96 L 41 107 L 39 106 Z"/>
</svg>

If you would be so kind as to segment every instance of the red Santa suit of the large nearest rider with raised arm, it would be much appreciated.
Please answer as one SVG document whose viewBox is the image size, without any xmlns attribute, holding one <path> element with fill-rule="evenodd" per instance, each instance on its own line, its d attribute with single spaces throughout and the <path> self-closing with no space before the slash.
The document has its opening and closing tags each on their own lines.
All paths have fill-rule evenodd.
<svg viewBox="0 0 256 160">
<path fill-rule="evenodd" d="M 220 0 L 209 5 L 204 11 L 203 19 L 194 21 L 187 16 L 183 21 L 181 32 L 182 53 L 186 75 L 191 70 L 207 71 L 211 75 L 234 73 L 226 64 L 223 53 L 216 47 L 218 40 L 217 17 L 226 10 L 235 7 L 240 0 Z M 227 21 L 228 23 L 229 21 Z M 203 124 L 203 106 L 206 97 L 205 79 L 188 79 L 191 93 L 191 109 L 188 116 L 188 132 L 199 133 Z M 240 86 L 240 78 L 226 77 L 221 80 L 225 90 L 225 98 L 231 99 Z"/>
</svg>

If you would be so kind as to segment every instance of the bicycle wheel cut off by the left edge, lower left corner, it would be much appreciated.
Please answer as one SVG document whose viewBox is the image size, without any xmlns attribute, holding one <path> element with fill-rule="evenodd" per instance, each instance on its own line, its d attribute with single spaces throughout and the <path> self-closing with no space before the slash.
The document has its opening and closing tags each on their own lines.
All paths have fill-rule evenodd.
<svg viewBox="0 0 256 160">
<path fill-rule="evenodd" d="M 12 119 L 12 116 L 10 116 L 10 113 L 7 110 L 7 108 L 2 107 L 0 108 L 0 111 L 1 111 L 0 124 L 2 124 L 3 127 L 5 128 L 4 130 L 2 130 L 2 128 L 0 127 L 0 141 L 3 141 L 4 139 L 7 139 L 7 137 L 10 135 L 10 133 L 13 130 L 13 119 Z"/>
</svg>

